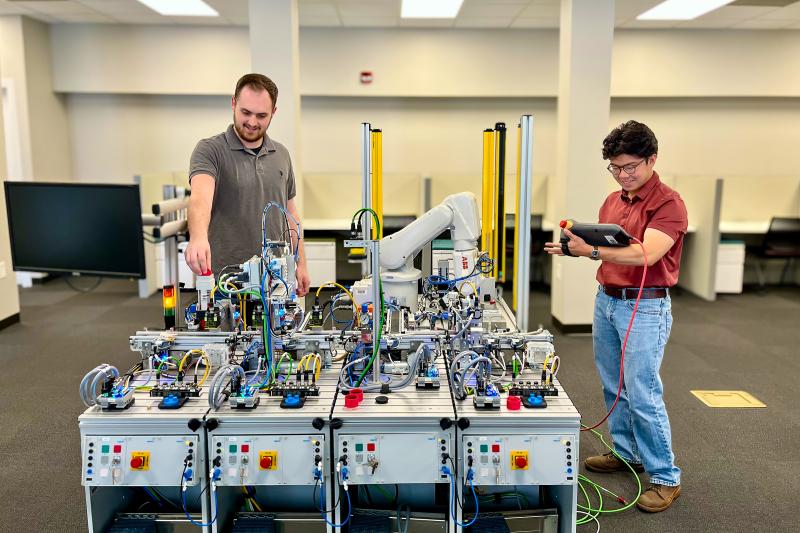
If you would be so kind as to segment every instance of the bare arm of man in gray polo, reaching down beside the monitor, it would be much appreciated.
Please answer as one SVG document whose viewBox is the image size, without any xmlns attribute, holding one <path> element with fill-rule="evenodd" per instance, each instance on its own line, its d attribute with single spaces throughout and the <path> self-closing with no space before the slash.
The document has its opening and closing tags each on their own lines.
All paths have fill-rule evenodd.
<svg viewBox="0 0 800 533">
<path fill-rule="evenodd" d="M 192 195 L 189 197 L 189 246 L 186 247 L 186 264 L 197 275 L 211 271 L 208 225 L 211 222 L 211 205 L 214 202 L 215 186 L 216 182 L 209 174 L 192 176 Z"/>
</svg>

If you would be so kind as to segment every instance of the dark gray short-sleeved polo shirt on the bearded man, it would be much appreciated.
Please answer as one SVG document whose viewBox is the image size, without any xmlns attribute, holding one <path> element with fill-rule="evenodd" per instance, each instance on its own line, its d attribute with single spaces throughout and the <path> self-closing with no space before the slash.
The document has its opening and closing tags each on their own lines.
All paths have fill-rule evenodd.
<svg viewBox="0 0 800 533">
<path fill-rule="evenodd" d="M 256 154 L 245 148 L 233 129 L 203 139 L 192 152 L 189 183 L 197 174 L 216 181 L 208 240 L 214 274 L 225 265 L 244 262 L 261 253 L 261 213 L 269 202 L 286 206 L 296 194 L 289 151 L 264 137 Z M 267 236 L 287 239 L 283 213 L 270 209 Z"/>
</svg>

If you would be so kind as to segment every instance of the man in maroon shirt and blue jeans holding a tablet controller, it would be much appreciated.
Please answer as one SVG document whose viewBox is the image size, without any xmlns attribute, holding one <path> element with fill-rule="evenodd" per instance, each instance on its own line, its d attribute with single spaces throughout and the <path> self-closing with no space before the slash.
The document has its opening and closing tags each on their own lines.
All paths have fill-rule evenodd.
<svg viewBox="0 0 800 533">
<path fill-rule="evenodd" d="M 664 347 L 672 328 L 669 290 L 678 282 L 686 235 L 686 206 L 680 195 L 664 185 L 653 170 L 658 141 L 646 125 L 630 120 L 603 141 L 603 159 L 620 191 L 600 207 L 599 221 L 622 226 L 639 239 L 647 252 L 647 277 L 625 349 L 624 383 L 619 401 L 608 418 L 614 453 L 589 457 L 593 472 L 646 471 L 650 487 L 637 506 L 649 512 L 669 508 L 680 496 L 681 470 L 675 466 L 672 434 L 659 376 Z M 619 389 L 622 343 L 633 314 L 644 273 L 645 254 L 636 244 L 624 248 L 590 246 L 569 230 L 570 254 L 602 261 L 595 299 L 592 338 L 595 365 L 603 383 L 606 407 L 611 409 Z M 560 243 L 547 243 L 552 255 L 564 255 Z"/>
</svg>

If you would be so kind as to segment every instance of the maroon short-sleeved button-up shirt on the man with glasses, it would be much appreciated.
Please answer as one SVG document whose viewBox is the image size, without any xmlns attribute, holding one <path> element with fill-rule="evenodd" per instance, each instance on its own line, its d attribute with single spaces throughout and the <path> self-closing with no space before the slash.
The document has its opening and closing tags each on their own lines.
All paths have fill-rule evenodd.
<svg viewBox="0 0 800 533">
<path fill-rule="evenodd" d="M 615 191 L 600 207 L 600 223 L 619 224 L 625 231 L 644 241 L 644 230 L 657 229 L 669 235 L 675 244 L 653 266 L 647 269 L 645 287 L 672 287 L 678 283 L 678 272 L 688 218 L 680 195 L 664 185 L 653 172 L 647 183 L 633 195 Z M 631 246 L 639 246 L 631 243 Z M 602 259 L 603 253 L 600 252 Z M 638 287 L 644 267 L 618 265 L 603 261 L 597 269 L 597 281 L 604 287 Z"/>
</svg>

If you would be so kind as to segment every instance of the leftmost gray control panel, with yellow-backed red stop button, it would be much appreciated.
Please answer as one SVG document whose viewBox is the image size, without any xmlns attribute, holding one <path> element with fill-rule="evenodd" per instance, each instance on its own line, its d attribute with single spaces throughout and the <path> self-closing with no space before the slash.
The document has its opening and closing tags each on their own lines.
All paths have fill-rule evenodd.
<svg viewBox="0 0 800 533">
<path fill-rule="evenodd" d="M 90 435 L 83 438 L 82 484 L 86 486 L 178 486 L 198 483 L 205 467 L 197 435 Z"/>
</svg>

